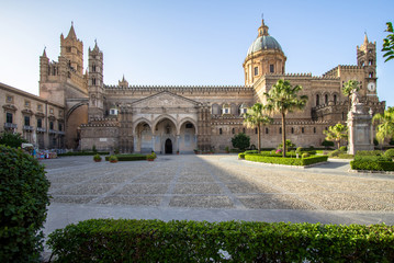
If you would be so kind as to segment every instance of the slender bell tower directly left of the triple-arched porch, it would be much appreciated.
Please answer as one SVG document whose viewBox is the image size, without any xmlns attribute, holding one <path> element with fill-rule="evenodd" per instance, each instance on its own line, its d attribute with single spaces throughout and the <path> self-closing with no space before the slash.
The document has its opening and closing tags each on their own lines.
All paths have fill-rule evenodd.
<svg viewBox="0 0 394 263">
<path fill-rule="evenodd" d="M 94 48 L 89 47 L 89 119 L 101 118 L 104 113 L 103 54 L 95 42 Z"/>
</svg>

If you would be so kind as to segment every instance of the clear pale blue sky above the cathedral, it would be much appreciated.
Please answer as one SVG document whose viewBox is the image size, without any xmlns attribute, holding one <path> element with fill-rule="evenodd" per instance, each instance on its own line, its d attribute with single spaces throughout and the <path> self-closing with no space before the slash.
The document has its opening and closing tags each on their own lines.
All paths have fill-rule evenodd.
<svg viewBox="0 0 394 263">
<path fill-rule="evenodd" d="M 394 105 L 394 60 L 384 64 L 394 1 L 0 1 L 0 82 L 38 94 L 44 46 L 57 60 L 71 21 L 88 47 L 104 53 L 104 82 L 244 84 L 243 61 L 261 13 L 288 57 L 286 72 L 320 76 L 356 65 L 367 32 L 378 46 L 378 95 Z"/>
</svg>

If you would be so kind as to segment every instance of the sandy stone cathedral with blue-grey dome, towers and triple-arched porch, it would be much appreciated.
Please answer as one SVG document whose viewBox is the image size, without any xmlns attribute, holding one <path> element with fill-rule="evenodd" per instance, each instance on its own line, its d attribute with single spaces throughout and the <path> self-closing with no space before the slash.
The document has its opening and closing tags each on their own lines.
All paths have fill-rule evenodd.
<svg viewBox="0 0 394 263">
<path fill-rule="evenodd" d="M 49 61 L 45 50 L 40 58 L 40 96 L 64 105 L 66 148 L 219 152 L 238 133 L 257 145 L 257 130 L 243 126 L 243 115 L 256 102 L 263 103 L 263 93 L 279 79 L 302 85 L 308 96 L 304 111 L 288 115 L 286 136 L 296 146 L 319 147 L 323 130 L 346 123 L 349 102 L 341 87 L 350 79 L 361 83 L 360 98 L 369 108 L 376 113 L 385 107 L 376 93 L 376 44 L 367 35 L 357 47 L 357 65 L 338 66 L 320 77 L 286 73 L 286 56 L 262 21 L 243 64 L 244 85 L 133 85 L 124 77 L 105 84 L 103 52 L 95 43 L 88 53 L 83 72 L 83 44 L 71 25 L 67 37 L 60 36 L 58 61 Z M 281 142 L 280 116 L 273 117 L 272 125 L 262 127 L 262 147 Z"/>
</svg>

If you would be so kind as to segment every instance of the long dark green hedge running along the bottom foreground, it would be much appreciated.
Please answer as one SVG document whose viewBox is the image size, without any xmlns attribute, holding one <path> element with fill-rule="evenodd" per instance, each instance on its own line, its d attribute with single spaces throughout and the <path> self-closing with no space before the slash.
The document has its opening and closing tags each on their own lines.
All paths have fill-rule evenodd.
<svg viewBox="0 0 394 263">
<path fill-rule="evenodd" d="M 55 262 L 393 262 L 394 227 L 91 219 L 49 235 Z"/>
</svg>

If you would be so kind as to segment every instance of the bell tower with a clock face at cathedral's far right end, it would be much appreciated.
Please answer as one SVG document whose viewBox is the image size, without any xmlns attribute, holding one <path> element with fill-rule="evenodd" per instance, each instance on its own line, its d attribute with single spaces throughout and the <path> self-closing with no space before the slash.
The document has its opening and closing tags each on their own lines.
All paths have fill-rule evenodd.
<svg viewBox="0 0 394 263">
<path fill-rule="evenodd" d="M 357 65 L 364 69 L 363 87 L 367 88 L 367 95 L 370 99 L 376 96 L 376 42 L 369 42 L 367 33 L 363 44 L 357 46 Z"/>
</svg>

